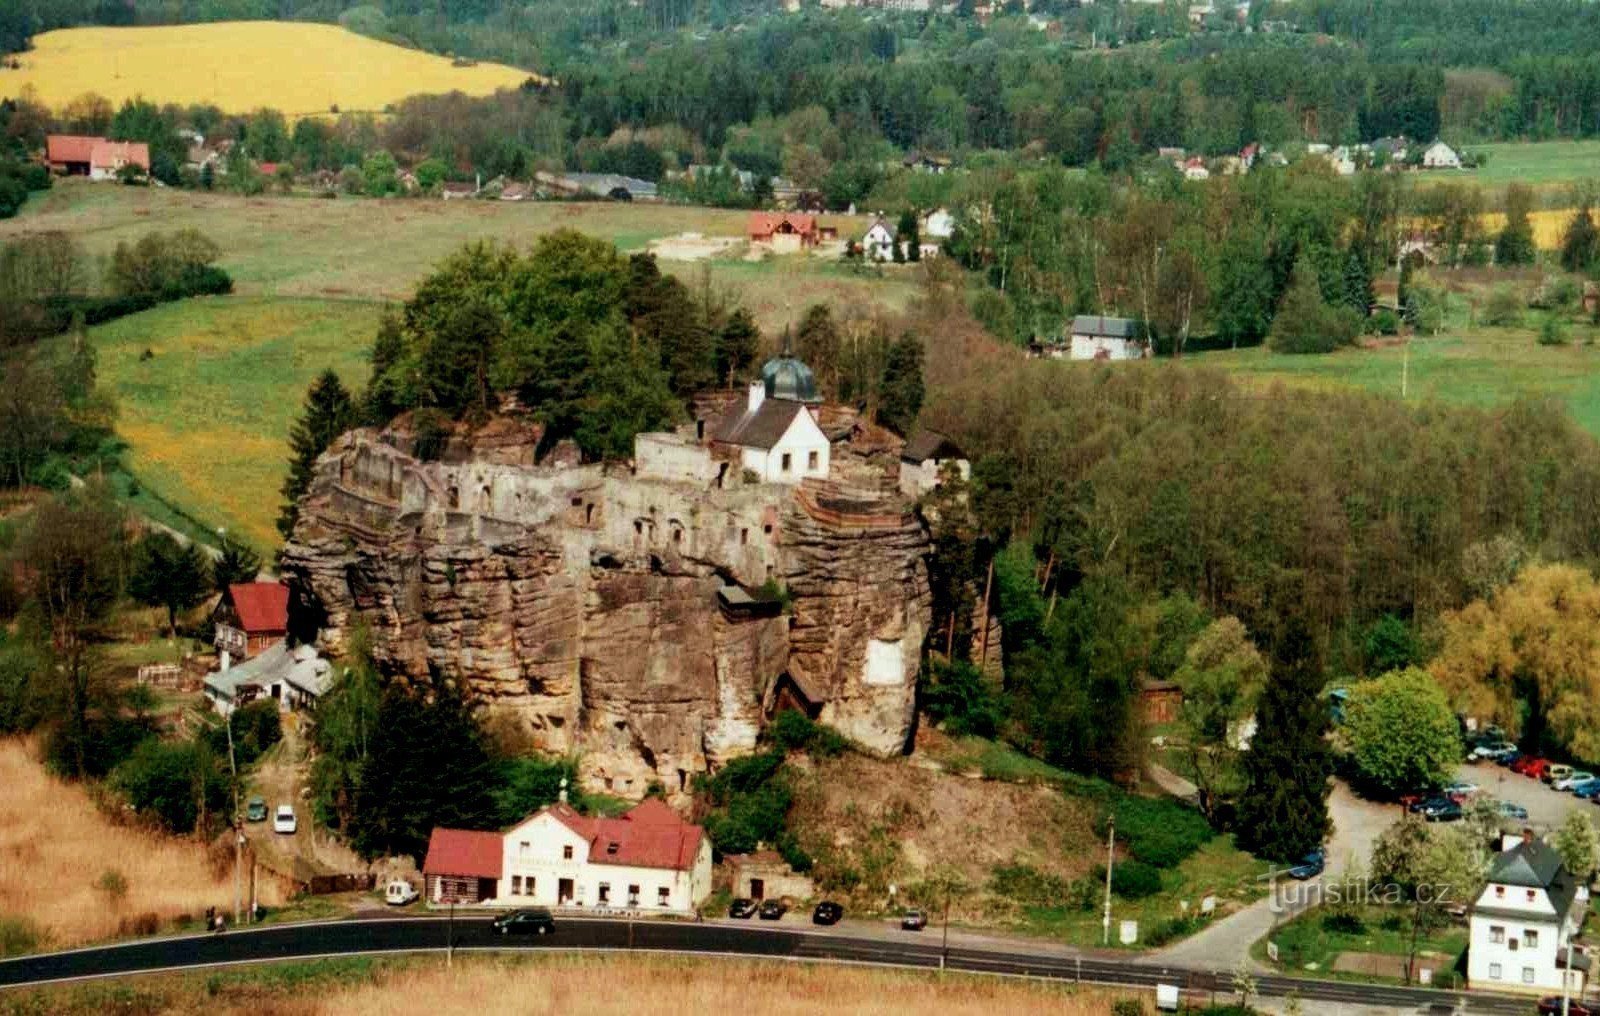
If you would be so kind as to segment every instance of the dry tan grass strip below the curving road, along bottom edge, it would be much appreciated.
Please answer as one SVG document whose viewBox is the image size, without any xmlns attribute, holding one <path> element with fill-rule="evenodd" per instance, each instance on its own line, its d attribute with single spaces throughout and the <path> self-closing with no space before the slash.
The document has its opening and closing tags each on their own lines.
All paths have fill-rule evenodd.
<svg viewBox="0 0 1600 1016">
<path fill-rule="evenodd" d="M 536 987 L 533 987 L 536 986 Z M 507 990 L 510 989 L 510 990 Z M 117 982 L 0 995 L 0 1013 L 205 1013 L 226 1016 L 384 1016 L 454 1013 L 470 1000 L 480 1016 L 571 1013 L 632 1016 L 640 998 L 662 1016 L 739 1011 L 749 1016 L 878 1016 L 938 1011 L 950 1016 L 1059 1013 L 1104 1016 L 1134 992 L 1069 984 L 899 973 L 782 962 L 677 957 L 458 957 L 341 958 L 157 974 Z M 1147 997 L 1146 997 L 1147 1000 Z"/>
</svg>

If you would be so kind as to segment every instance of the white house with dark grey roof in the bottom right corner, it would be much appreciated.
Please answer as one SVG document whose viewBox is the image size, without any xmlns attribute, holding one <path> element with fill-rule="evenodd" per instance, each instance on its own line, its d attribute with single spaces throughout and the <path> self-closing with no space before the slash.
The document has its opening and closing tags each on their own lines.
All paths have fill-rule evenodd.
<svg viewBox="0 0 1600 1016">
<path fill-rule="evenodd" d="M 1587 909 L 1589 891 L 1560 854 L 1525 830 L 1520 842 L 1494 856 L 1472 906 L 1467 986 L 1542 995 L 1560 992 L 1565 981 L 1573 997 L 1581 997 L 1589 958 L 1573 955 L 1568 970 L 1566 946 Z"/>
</svg>

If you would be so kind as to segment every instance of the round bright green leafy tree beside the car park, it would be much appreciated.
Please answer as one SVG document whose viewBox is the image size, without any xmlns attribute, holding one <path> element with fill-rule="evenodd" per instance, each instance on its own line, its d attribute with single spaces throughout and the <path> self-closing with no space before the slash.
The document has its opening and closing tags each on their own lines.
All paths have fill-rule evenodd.
<svg viewBox="0 0 1600 1016">
<path fill-rule="evenodd" d="M 1384 794 L 1440 786 L 1461 763 L 1450 699 L 1416 667 L 1350 688 L 1342 733 L 1360 779 Z"/>
</svg>

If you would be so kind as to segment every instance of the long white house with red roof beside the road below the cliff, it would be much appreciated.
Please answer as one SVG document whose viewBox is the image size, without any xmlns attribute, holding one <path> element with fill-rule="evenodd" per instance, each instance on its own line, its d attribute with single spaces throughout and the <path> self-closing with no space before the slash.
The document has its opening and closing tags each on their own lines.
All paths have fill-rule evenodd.
<svg viewBox="0 0 1600 1016">
<path fill-rule="evenodd" d="M 434 829 L 422 875 L 435 904 L 688 914 L 710 894 L 710 837 L 654 797 L 621 818 L 562 802 L 504 832 Z"/>
</svg>

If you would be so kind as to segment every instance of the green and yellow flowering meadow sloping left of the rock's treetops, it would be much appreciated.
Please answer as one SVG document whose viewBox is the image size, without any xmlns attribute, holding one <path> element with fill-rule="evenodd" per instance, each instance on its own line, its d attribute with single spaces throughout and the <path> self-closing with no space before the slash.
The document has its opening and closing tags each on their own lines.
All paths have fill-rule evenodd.
<svg viewBox="0 0 1600 1016">
<path fill-rule="evenodd" d="M 326 366 L 352 389 L 366 382 L 379 314 L 365 301 L 227 296 L 93 328 L 139 486 L 259 550 L 275 547 L 306 389 Z"/>
</svg>

